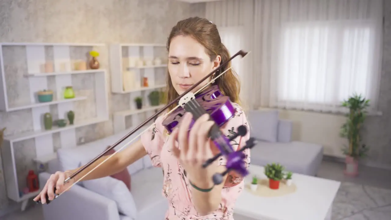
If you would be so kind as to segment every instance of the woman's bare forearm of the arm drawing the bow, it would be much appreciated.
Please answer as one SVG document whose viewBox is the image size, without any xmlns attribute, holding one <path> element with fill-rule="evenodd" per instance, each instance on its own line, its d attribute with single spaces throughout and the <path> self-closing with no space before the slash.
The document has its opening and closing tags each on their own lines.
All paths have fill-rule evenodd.
<svg viewBox="0 0 391 220">
<path fill-rule="evenodd" d="M 108 160 L 106 160 L 106 159 L 111 155 L 106 155 L 106 156 L 99 158 L 93 164 L 88 166 L 85 170 L 83 170 L 82 172 L 77 174 L 74 178 L 74 181 L 77 181 L 80 178 L 82 178 L 84 175 L 86 175 L 88 172 L 93 170 L 96 166 L 98 166 L 104 160 L 106 160 L 106 161 L 103 162 L 103 164 L 101 164 L 94 171 L 89 173 L 81 181 L 99 179 L 102 177 L 107 177 L 107 176 L 113 175 L 115 173 L 118 173 L 145 155 L 147 155 L 147 152 L 145 151 L 141 141 L 137 141 L 134 144 L 132 144 L 131 146 L 127 146 L 124 150 L 116 153 Z M 72 173 L 75 173 L 80 168 L 76 168 L 74 170 L 68 170 L 66 172 L 69 173 L 68 176 L 70 176 Z"/>
</svg>

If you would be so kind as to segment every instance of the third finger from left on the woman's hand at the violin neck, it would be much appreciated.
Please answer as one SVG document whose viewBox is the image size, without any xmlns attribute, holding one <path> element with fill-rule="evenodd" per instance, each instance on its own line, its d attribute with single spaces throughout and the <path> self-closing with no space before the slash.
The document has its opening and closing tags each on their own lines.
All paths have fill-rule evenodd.
<svg viewBox="0 0 391 220">
<path fill-rule="evenodd" d="M 188 153 L 187 153 L 187 160 L 192 162 L 192 163 L 195 163 L 197 162 L 197 151 L 198 151 L 198 144 L 197 144 L 197 133 L 199 132 L 200 128 L 201 128 L 201 124 L 203 124 L 204 122 L 206 122 L 207 120 L 209 119 L 209 115 L 208 114 L 204 114 L 202 115 L 201 117 L 199 117 L 197 119 L 197 121 L 195 121 L 195 123 L 193 124 L 193 127 L 192 129 L 190 130 L 190 135 L 189 135 L 189 143 L 188 143 Z"/>
</svg>

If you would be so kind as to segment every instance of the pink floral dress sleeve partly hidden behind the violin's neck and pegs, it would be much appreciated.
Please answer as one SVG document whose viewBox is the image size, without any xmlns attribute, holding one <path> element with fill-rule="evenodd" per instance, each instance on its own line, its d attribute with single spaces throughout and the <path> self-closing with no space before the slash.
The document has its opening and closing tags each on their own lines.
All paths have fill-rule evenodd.
<svg viewBox="0 0 391 220">
<path fill-rule="evenodd" d="M 250 128 L 248 126 L 248 121 L 246 118 L 246 114 L 240 108 L 240 106 L 235 105 L 236 113 L 235 115 L 221 128 L 221 131 L 226 135 L 226 137 L 230 138 L 237 132 L 237 128 L 240 125 L 244 125 L 247 128 L 247 133 L 244 137 L 238 136 L 233 141 L 231 141 L 231 146 L 234 150 L 240 150 L 242 147 L 246 145 L 246 141 L 250 138 Z M 248 168 L 250 164 L 250 150 L 246 149 L 243 151 L 243 153 L 246 155 L 246 158 L 244 160 L 246 168 Z M 220 157 L 219 159 L 219 166 L 225 166 L 227 161 L 225 157 Z M 224 184 L 224 187 L 232 187 L 236 186 L 240 182 L 242 182 L 243 178 L 240 177 L 235 171 L 231 171 L 228 173 L 228 177 L 226 179 L 226 182 Z"/>
</svg>

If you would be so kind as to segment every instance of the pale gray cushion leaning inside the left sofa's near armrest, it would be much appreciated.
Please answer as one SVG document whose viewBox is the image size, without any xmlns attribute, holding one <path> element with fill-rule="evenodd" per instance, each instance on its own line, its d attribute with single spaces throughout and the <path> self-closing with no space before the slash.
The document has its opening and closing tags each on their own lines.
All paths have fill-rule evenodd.
<svg viewBox="0 0 391 220">
<path fill-rule="evenodd" d="M 135 219 L 137 216 L 136 204 L 132 194 L 124 182 L 113 177 L 84 181 L 84 188 L 107 197 L 117 204 L 118 212 Z"/>
</svg>

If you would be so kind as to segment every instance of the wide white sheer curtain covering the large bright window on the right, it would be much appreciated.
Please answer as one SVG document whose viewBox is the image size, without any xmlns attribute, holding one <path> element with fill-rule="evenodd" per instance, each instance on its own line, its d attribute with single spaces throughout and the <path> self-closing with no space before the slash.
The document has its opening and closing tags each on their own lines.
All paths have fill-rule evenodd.
<svg viewBox="0 0 391 220">
<path fill-rule="evenodd" d="M 382 0 L 255 0 L 256 106 L 339 112 L 353 93 L 376 110 Z"/>
</svg>

